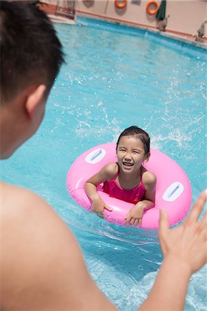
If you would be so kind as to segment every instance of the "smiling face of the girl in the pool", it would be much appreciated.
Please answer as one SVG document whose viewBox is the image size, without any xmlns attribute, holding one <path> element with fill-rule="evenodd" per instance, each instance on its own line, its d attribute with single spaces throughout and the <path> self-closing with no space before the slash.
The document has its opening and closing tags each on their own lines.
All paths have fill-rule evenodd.
<svg viewBox="0 0 207 311">
<path fill-rule="evenodd" d="M 138 171 L 145 156 L 144 144 L 136 138 L 136 136 L 123 136 L 118 143 L 116 156 L 118 158 L 118 165 L 125 173 Z"/>
</svg>

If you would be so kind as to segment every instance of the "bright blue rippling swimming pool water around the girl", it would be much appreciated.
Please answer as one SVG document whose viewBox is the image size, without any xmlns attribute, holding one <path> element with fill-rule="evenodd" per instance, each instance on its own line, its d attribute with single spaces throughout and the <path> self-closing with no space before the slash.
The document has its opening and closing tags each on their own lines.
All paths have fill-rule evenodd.
<svg viewBox="0 0 207 311">
<path fill-rule="evenodd" d="M 162 255 L 156 232 L 111 225 L 69 198 L 66 173 L 80 153 L 115 141 L 130 125 L 177 161 L 193 202 L 206 187 L 204 50 L 141 30 L 79 19 L 55 24 L 62 67 L 42 126 L 1 165 L 3 180 L 43 196 L 73 230 L 91 276 L 122 311 L 149 292 Z M 207 310 L 206 267 L 190 280 L 186 310 Z"/>
</svg>

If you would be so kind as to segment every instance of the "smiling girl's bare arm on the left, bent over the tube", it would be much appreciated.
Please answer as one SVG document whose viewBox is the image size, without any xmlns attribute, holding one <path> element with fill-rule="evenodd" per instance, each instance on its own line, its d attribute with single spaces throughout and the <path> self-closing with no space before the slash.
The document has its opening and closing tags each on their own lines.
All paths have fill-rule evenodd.
<svg viewBox="0 0 207 311">
<path fill-rule="evenodd" d="M 111 207 L 105 204 L 98 195 L 96 187 L 106 180 L 114 178 L 116 174 L 116 163 L 109 163 L 105 165 L 98 173 L 89 178 L 84 185 L 87 196 L 91 200 L 91 208 L 93 211 L 103 212 L 104 209 L 111 211 Z"/>
</svg>

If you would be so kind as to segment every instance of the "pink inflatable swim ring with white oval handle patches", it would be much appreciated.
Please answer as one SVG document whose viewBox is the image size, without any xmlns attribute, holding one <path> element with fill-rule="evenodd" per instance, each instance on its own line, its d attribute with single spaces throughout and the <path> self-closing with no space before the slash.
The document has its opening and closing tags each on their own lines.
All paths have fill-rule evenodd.
<svg viewBox="0 0 207 311">
<path fill-rule="evenodd" d="M 145 164 L 147 170 L 156 176 L 156 200 L 155 207 L 145 211 L 142 227 L 145 229 L 157 229 L 159 227 L 159 209 L 168 212 L 170 225 L 179 223 L 190 209 L 192 193 L 190 182 L 186 173 L 165 154 L 150 149 L 149 162 Z M 84 182 L 109 162 L 116 162 L 116 144 L 101 144 L 93 147 L 75 160 L 66 177 L 66 185 L 70 196 L 84 209 L 91 210 L 91 202 L 84 191 Z M 102 192 L 101 185 L 97 188 L 98 194 L 113 211 L 105 209 L 105 219 L 110 223 L 125 225 L 125 216 L 133 206 L 116 198 L 110 198 Z"/>
</svg>

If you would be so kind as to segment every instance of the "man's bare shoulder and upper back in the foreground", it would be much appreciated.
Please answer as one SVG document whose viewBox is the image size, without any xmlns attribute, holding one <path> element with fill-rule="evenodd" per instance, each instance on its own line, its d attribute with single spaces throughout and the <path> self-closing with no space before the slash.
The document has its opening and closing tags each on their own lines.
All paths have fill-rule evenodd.
<svg viewBox="0 0 207 311">
<path fill-rule="evenodd" d="M 28 189 L 0 187 L 1 310 L 115 310 L 53 208 Z"/>
</svg>

